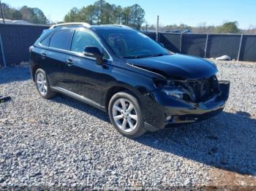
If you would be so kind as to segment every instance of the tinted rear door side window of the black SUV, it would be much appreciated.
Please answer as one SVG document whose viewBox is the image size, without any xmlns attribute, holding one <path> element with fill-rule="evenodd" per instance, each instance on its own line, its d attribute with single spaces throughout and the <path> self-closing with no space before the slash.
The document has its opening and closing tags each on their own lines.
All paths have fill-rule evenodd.
<svg viewBox="0 0 256 191">
<path fill-rule="evenodd" d="M 64 29 L 56 31 L 53 36 L 50 38 L 50 47 L 55 47 L 63 50 L 68 50 L 68 43 L 72 30 Z"/>
</svg>

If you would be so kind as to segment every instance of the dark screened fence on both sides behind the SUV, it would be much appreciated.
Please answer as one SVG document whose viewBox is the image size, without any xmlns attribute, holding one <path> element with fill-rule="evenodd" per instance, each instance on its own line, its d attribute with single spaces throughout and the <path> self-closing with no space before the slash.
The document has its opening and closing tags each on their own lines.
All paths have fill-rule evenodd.
<svg viewBox="0 0 256 191">
<path fill-rule="evenodd" d="M 29 47 L 48 26 L 0 24 L 0 65 L 29 61 Z M 156 40 L 154 32 L 144 34 Z M 229 55 L 239 61 L 256 61 L 256 35 L 159 33 L 158 42 L 168 50 L 202 58 Z"/>
</svg>

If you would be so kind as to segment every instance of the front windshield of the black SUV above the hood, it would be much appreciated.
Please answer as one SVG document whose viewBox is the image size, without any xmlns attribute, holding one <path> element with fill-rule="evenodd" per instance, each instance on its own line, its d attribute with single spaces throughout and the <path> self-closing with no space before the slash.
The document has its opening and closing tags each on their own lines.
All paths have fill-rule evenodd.
<svg viewBox="0 0 256 191">
<path fill-rule="evenodd" d="M 169 52 L 145 34 L 132 30 L 98 31 L 99 36 L 122 58 L 146 58 Z"/>
</svg>

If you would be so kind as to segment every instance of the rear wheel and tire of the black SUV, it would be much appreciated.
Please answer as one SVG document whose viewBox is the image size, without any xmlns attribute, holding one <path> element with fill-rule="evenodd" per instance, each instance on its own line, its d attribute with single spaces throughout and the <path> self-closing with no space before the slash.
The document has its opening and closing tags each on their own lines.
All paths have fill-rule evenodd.
<svg viewBox="0 0 256 191">
<path fill-rule="evenodd" d="M 45 71 L 43 71 L 42 69 L 37 69 L 35 73 L 35 82 L 37 86 L 37 91 L 39 95 L 41 95 L 43 98 L 49 99 L 56 95 L 56 93 L 50 89 L 50 83 L 45 74 Z"/>
</svg>

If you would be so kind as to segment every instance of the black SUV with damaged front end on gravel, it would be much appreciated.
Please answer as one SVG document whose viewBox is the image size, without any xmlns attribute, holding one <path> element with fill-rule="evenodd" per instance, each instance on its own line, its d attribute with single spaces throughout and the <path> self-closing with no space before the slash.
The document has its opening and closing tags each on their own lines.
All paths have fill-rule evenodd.
<svg viewBox="0 0 256 191">
<path fill-rule="evenodd" d="M 212 117 L 222 112 L 230 89 L 211 61 L 174 54 L 127 26 L 52 26 L 30 52 L 43 98 L 63 93 L 102 109 L 130 138 Z"/>
</svg>

